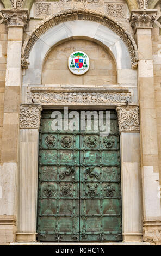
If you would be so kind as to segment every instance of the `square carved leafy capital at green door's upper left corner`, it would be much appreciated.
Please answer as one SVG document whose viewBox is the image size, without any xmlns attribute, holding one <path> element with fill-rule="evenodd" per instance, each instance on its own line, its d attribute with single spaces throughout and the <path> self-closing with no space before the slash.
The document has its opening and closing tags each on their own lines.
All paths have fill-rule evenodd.
<svg viewBox="0 0 161 256">
<path fill-rule="evenodd" d="M 41 106 L 20 106 L 20 128 L 39 129 L 41 118 Z"/>
</svg>

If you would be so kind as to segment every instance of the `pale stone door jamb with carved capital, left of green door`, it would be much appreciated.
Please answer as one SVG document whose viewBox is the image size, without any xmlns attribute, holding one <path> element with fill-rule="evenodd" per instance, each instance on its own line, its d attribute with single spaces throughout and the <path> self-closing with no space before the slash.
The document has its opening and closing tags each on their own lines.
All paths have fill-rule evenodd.
<svg viewBox="0 0 161 256">
<path fill-rule="evenodd" d="M 20 107 L 20 172 L 17 242 L 36 242 L 41 106 Z"/>
</svg>

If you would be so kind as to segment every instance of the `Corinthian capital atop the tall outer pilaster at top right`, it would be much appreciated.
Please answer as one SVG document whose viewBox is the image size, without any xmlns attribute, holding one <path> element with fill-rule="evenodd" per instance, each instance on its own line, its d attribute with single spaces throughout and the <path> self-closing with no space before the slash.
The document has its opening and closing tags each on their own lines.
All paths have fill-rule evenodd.
<svg viewBox="0 0 161 256">
<path fill-rule="evenodd" d="M 137 28 L 152 28 L 157 17 L 157 9 L 133 10 L 131 12 L 131 27 L 136 32 Z"/>
</svg>

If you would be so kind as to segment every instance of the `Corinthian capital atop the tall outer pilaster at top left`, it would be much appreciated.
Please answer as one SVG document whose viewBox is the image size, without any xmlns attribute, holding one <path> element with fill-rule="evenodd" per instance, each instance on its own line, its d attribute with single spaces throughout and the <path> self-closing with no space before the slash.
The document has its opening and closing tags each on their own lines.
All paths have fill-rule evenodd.
<svg viewBox="0 0 161 256">
<path fill-rule="evenodd" d="M 27 9 L 3 9 L 2 22 L 6 22 L 8 27 L 20 26 L 27 28 L 29 22 L 29 13 Z"/>
</svg>

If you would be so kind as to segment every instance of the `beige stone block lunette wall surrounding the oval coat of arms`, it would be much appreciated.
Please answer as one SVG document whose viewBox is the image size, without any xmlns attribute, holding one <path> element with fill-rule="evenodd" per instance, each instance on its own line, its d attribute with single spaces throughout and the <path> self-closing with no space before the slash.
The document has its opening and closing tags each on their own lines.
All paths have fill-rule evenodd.
<svg viewBox="0 0 161 256">
<path fill-rule="evenodd" d="M 82 76 L 67 68 L 70 54 L 82 50 L 90 58 L 90 70 Z M 113 58 L 100 45 L 87 40 L 71 40 L 54 47 L 48 53 L 42 71 L 42 84 L 116 84 L 117 72 Z"/>
</svg>

